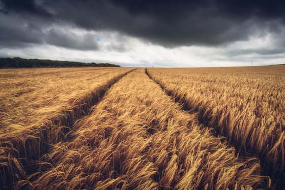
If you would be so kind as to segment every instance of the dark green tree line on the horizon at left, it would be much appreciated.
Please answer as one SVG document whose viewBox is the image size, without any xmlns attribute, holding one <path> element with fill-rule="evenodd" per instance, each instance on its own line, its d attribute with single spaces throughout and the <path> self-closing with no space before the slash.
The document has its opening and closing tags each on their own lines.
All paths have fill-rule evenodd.
<svg viewBox="0 0 285 190">
<path fill-rule="evenodd" d="M 77 61 L 60 61 L 49 59 L 24 59 L 20 57 L 0 57 L 0 68 L 56 68 L 56 67 L 121 67 L 114 64 L 86 64 Z"/>
</svg>

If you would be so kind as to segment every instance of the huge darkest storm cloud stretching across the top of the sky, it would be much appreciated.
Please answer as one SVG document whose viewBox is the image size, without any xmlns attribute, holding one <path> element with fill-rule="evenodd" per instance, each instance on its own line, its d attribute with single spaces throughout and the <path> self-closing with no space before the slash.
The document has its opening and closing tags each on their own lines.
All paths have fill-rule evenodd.
<svg viewBox="0 0 285 190">
<path fill-rule="evenodd" d="M 0 1 L 2 12 L 10 15 L 40 17 L 43 23 L 64 22 L 89 30 L 119 31 L 165 47 L 247 40 L 263 30 L 275 32 L 271 21 L 284 24 L 285 20 L 284 1 Z M 60 38 L 56 34 L 49 37 Z M 61 37 L 62 45 L 50 38 L 48 42 L 69 46 L 69 38 Z"/>
</svg>

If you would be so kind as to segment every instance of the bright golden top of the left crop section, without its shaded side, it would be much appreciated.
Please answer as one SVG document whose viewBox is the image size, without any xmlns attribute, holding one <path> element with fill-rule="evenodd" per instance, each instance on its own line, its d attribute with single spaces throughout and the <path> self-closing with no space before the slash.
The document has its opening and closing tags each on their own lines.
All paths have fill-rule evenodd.
<svg viewBox="0 0 285 190">
<path fill-rule="evenodd" d="M 0 135 L 43 125 L 130 69 L 0 70 Z"/>
</svg>

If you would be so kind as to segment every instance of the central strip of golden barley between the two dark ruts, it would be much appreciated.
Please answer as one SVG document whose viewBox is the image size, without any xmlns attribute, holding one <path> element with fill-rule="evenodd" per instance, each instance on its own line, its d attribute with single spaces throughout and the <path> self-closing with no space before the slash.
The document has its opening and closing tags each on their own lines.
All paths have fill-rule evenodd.
<svg viewBox="0 0 285 190">
<path fill-rule="evenodd" d="M 251 189 L 264 187 L 257 159 L 238 159 L 180 109 L 144 69 L 108 90 L 72 140 L 54 145 L 36 180 L 42 189 Z"/>
</svg>

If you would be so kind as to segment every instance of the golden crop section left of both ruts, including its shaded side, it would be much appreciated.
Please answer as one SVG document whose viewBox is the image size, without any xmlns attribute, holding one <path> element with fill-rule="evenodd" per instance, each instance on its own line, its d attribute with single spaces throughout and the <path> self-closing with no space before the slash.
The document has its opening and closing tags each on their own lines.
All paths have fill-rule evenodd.
<svg viewBox="0 0 285 190">
<path fill-rule="evenodd" d="M 0 187 L 25 178 L 30 165 L 58 142 L 129 68 L 0 71 Z"/>
</svg>

